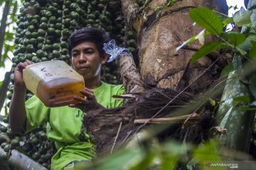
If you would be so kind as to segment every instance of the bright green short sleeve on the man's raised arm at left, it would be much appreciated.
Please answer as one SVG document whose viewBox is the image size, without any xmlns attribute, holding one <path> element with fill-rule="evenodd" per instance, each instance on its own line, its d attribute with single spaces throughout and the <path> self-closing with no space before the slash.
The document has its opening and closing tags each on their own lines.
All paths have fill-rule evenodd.
<svg viewBox="0 0 256 170">
<path fill-rule="evenodd" d="M 26 107 L 26 132 L 43 125 L 48 120 L 50 108 L 46 107 L 39 98 L 32 96 L 25 103 Z"/>
</svg>

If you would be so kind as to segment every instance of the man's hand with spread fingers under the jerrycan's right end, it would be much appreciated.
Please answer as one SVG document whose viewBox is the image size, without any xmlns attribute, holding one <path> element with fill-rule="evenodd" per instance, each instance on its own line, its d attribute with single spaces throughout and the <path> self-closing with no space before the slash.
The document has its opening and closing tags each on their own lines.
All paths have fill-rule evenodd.
<svg viewBox="0 0 256 170">
<path fill-rule="evenodd" d="M 100 103 L 97 103 L 97 100 L 95 98 L 95 95 L 93 94 L 93 91 L 90 89 L 87 89 L 85 87 L 84 90 L 80 91 L 80 93 L 84 97 L 80 96 L 74 96 L 75 101 L 78 101 L 78 104 L 70 104 L 70 108 L 80 108 L 84 113 L 87 113 L 89 111 L 97 110 L 99 108 L 104 108 L 100 105 Z"/>
</svg>

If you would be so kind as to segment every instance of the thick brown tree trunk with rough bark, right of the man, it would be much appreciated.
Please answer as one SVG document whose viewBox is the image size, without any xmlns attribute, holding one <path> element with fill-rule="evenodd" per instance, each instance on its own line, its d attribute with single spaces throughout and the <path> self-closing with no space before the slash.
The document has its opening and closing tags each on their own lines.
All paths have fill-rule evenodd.
<svg viewBox="0 0 256 170">
<path fill-rule="evenodd" d="M 215 1 L 183 0 L 156 11 L 158 6 L 163 6 L 165 3 L 166 0 L 149 1 L 144 10 L 139 11 L 134 0 L 123 0 L 122 11 L 127 23 L 137 34 L 140 73 L 144 83 L 160 88 L 178 89 L 183 74 L 187 74 L 185 84 L 190 84 L 213 62 L 205 57 L 187 67 L 195 51 L 181 49 L 176 52 L 178 45 L 203 29 L 193 26 L 193 21 L 188 17 L 189 10 L 203 6 L 216 11 L 221 11 L 221 8 Z M 213 38 L 208 38 L 206 41 L 210 40 Z M 191 47 L 198 49 L 201 45 L 196 42 Z M 196 91 L 202 91 L 212 83 L 214 76 L 212 72 L 209 73 L 210 75 L 203 75 L 194 84 Z"/>
</svg>

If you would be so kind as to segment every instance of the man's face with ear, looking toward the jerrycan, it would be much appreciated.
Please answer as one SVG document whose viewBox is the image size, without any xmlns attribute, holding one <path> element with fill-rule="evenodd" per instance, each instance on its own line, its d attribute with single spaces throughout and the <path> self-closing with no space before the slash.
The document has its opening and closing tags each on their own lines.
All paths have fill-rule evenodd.
<svg viewBox="0 0 256 170">
<path fill-rule="evenodd" d="M 84 79 L 100 77 L 101 65 L 105 64 L 107 57 L 100 57 L 94 42 L 85 41 L 73 47 L 71 51 L 71 63 L 75 71 Z"/>
</svg>

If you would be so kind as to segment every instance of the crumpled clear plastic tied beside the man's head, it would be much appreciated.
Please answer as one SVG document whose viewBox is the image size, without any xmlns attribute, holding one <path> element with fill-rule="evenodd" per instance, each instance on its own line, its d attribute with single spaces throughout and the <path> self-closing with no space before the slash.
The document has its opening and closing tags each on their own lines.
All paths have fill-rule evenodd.
<svg viewBox="0 0 256 170">
<path fill-rule="evenodd" d="M 110 55 L 110 58 L 107 60 L 107 62 L 112 62 L 120 55 L 130 54 L 129 50 L 127 50 L 125 47 L 117 46 L 114 40 L 110 40 L 110 42 L 104 43 L 103 50 L 105 50 L 105 52 Z"/>
</svg>

